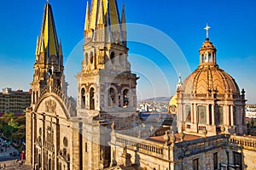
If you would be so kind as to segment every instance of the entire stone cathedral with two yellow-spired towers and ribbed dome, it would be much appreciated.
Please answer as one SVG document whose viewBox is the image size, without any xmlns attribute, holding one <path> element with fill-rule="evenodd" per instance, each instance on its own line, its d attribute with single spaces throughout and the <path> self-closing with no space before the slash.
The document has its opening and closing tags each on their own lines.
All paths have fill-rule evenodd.
<svg viewBox="0 0 256 170">
<path fill-rule="evenodd" d="M 255 169 L 245 91 L 217 64 L 208 37 L 198 68 L 177 83 L 168 114 L 137 114 L 137 77 L 128 61 L 125 5 L 87 3 L 77 99 L 67 96 L 61 41 L 51 5 L 37 40 L 26 164 L 42 170 Z M 171 120 L 172 118 L 172 120 Z"/>
</svg>

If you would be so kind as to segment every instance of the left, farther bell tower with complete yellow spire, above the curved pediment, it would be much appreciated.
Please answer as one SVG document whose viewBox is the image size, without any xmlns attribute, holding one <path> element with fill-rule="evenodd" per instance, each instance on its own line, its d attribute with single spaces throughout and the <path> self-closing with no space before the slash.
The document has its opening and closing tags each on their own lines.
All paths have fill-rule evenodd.
<svg viewBox="0 0 256 170">
<path fill-rule="evenodd" d="M 58 41 L 51 5 L 45 4 L 43 24 L 37 41 L 36 60 L 32 85 L 32 105 L 44 90 L 61 90 L 67 94 L 67 82 L 63 74 L 63 54 Z M 48 89 L 46 89 L 48 88 Z"/>
</svg>

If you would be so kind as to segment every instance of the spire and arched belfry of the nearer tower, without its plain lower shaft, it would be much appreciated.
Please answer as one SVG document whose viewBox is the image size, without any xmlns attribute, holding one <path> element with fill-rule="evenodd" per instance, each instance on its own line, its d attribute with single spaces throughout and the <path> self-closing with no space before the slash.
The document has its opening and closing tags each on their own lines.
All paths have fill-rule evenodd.
<svg viewBox="0 0 256 170">
<path fill-rule="evenodd" d="M 127 57 L 125 5 L 120 19 L 115 0 L 92 0 L 90 12 L 87 3 L 84 59 L 77 76 L 80 116 L 136 111 L 137 76 Z"/>
</svg>

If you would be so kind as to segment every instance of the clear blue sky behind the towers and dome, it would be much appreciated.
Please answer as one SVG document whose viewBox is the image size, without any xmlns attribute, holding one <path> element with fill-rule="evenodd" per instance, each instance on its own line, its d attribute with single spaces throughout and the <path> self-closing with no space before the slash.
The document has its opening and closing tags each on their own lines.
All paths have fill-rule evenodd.
<svg viewBox="0 0 256 170">
<path fill-rule="evenodd" d="M 1 2 L 0 88 L 30 88 L 45 3 L 44 0 Z M 51 0 L 50 3 L 67 61 L 69 93 L 75 95 L 73 75 L 80 70 L 83 59 L 79 42 L 84 34 L 86 1 Z M 121 9 L 123 0 L 118 3 Z M 125 0 L 125 11 L 127 22 L 143 25 L 131 25 L 128 30 L 128 38 L 135 40 L 128 43 L 129 60 L 132 70 L 141 77 L 139 98 L 175 93 L 178 72 L 184 79 L 199 63 L 198 51 L 206 38 L 203 28 L 208 22 L 212 27 L 210 40 L 218 49 L 218 65 L 236 79 L 240 88 L 245 88 L 248 103 L 256 103 L 256 1 Z M 144 38 L 140 37 L 143 30 L 148 33 Z M 166 36 L 170 39 L 166 40 Z M 166 56 L 175 51 L 178 54 L 172 59 Z M 177 65 L 181 58 L 187 61 L 184 65 L 189 71 Z"/>
</svg>

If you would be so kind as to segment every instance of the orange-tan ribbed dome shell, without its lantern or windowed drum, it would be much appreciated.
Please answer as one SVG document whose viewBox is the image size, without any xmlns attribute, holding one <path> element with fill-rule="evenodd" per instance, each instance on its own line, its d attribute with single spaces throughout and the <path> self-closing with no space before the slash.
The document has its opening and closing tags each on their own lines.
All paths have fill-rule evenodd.
<svg viewBox="0 0 256 170">
<path fill-rule="evenodd" d="M 214 90 L 217 94 L 240 94 L 235 79 L 219 69 L 218 65 L 198 67 L 183 82 L 184 94 L 209 94 Z"/>
</svg>

